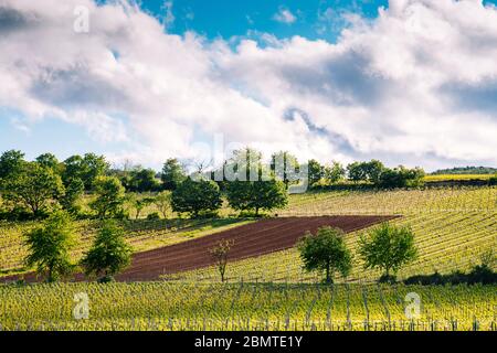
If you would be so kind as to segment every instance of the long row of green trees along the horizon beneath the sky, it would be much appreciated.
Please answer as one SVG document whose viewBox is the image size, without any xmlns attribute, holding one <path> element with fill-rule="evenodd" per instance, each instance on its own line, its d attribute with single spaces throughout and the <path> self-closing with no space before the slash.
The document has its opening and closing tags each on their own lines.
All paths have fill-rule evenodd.
<svg viewBox="0 0 497 353">
<path fill-rule="evenodd" d="M 257 216 L 261 211 L 284 207 L 290 188 L 303 182 L 302 175 L 310 189 L 337 183 L 412 188 L 422 184 L 424 172 L 402 165 L 389 169 L 377 160 L 347 167 L 335 161 L 324 165 L 316 160 L 300 164 L 287 151 L 274 153 L 264 163 L 262 153 L 250 148 L 233 151 L 218 169 L 198 168 L 190 173 L 178 159 L 168 159 L 156 172 L 140 165 L 110 168 L 104 156 L 95 153 L 64 161 L 43 153 L 27 161 L 24 153 L 10 150 L 0 156 L 0 217 L 45 217 L 64 210 L 78 217 L 125 218 L 130 217 L 125 205 L 130 205 L 138 218 L 151 204 L 158 210 L 148 215 L 151 218 L 167 217 L 171 212 L 213 216 L 223 200 L 241 214 Z M 85 194 L 89 195 L 89 213 L 82 206 Z"/>
</svg>

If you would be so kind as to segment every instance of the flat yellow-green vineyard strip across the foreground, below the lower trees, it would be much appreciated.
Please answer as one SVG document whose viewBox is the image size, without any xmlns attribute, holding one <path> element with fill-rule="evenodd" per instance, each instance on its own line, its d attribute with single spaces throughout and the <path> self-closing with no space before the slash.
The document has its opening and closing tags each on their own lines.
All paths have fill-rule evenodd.
<svg viewBox="0 0 497 353">
<path fill-rule="evenodd" d="M 3 330 L 496 330 L 496 286 L 60 284 L 0 286 Z M 88 319 L 75 320 L 76 293 Z M 420 298 L 406 319 L 405 296 Z"/>
</svg>

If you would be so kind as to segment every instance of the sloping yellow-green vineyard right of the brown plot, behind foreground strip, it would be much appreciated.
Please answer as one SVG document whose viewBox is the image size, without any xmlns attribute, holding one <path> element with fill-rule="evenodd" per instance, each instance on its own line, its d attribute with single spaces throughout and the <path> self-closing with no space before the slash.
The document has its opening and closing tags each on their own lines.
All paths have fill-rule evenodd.
<svg viewBox="0 0 497 353">
<path fill-rule="evenodd" d="M 281 215 L 309 216 L 317 214 L 401 214 L 392 221 L 408 225 L 415 234 L 419 258 L 401 269 L 399 278 L 438 271 L 467 270 L 488 249 L 497 248 L 497 189 L 440 189 L 391 192 L 321 192 L 294 195 Z M 347 235 L 346 243 L 357 253 L 359 235 Z M 364 270 L 355 256 L 356 266 L 347 281 L 371 281 L 380 274 Z M 316 274 L 302 269 L 295 248 L 257 258 L 234 261 L 226 276 L 237 281 L 297 281 L 320 280 Z M 218 278 L 214 268 L 204 268 L 168 279 L 212 281 Z M 340 280 L 340 279 L 338 279 Z"/>
</svg>

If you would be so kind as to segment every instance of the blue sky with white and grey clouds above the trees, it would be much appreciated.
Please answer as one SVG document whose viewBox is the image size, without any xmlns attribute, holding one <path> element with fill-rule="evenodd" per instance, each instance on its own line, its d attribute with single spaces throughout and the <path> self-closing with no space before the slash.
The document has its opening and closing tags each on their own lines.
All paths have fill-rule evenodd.
<svg viewBox="0 0 497 353">
<path fill-rule="evenodd" d="M 497 165 L 495 3 L 0 0 L 0 151 Z"/>
</svg>

